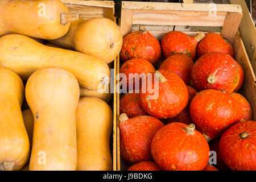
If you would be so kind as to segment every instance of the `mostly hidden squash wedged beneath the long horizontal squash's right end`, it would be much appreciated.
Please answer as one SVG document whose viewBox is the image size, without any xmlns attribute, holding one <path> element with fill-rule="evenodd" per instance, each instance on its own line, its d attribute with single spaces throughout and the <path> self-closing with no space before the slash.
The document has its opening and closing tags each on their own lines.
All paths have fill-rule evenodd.
<svg viewBox="0 0 256 182">
<path fill-rule="evenodd" d="M 102 89 L 96 91 L 80 87 L 80 96 L 98 97 L 101 100 L 104 100 L 105 102 L 109 103 L 113 97 L 113 93 L 111 93 L 110 91 L 110 83 L 108 85 L 104 85 Z"/>
</svg>

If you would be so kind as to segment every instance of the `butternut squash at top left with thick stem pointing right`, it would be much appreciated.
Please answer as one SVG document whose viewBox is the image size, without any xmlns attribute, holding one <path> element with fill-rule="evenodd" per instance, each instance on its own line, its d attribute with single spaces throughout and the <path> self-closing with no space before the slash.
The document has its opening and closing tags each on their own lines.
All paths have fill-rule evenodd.
<svg viewBox="0 0 256 182">
<path fill-rule="evenodd" d="M 69 14 L 60 0 L 0 1 L 0 36 L 23 34 L 39 39 L 65 35 L 79 14 Z"/>
</svg>

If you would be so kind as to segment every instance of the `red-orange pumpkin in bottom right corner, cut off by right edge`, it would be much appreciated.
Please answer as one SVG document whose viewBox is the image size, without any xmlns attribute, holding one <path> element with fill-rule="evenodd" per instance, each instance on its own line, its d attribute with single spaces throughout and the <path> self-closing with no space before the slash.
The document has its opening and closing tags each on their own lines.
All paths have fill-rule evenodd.
<svg viewBox="0 0 256 182">
<path fill-rule="evenodd" d="M 230 127 L 220 139 L 220 153 L 233 171 L 256 170 L 256 121 L 239 122 Z"/>
</svg>

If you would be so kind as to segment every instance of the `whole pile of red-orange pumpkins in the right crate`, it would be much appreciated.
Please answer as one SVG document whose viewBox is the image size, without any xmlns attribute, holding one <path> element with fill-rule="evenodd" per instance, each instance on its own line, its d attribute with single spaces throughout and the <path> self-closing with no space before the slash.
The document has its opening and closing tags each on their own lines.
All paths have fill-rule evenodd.
<svg viewBox="0 0 256 182">
<path fill-rule="evenodd" d="M 159 43 L 140 27 L 123 38 L 121 59 L 129 92 L 120 100 L 120 145 L 128 170 L 256 170 L 256 121 L 237 93 L 243 69 L 220 34 L 171 31 Z M 217 155 L 211 160 L 210 151 Z"/>
</svg>

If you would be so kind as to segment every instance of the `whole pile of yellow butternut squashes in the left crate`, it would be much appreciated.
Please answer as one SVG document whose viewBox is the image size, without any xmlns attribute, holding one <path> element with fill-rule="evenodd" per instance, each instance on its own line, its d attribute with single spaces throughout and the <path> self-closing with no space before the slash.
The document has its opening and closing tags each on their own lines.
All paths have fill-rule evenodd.
<svg viewBox="0 0 256 182">
<path fill-rule="evenodd" d="M 0 12 L 0 169 L 111 170 L 120 28 L 59 0 L 1 0 Z"/>
</svg>

